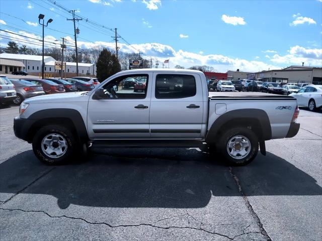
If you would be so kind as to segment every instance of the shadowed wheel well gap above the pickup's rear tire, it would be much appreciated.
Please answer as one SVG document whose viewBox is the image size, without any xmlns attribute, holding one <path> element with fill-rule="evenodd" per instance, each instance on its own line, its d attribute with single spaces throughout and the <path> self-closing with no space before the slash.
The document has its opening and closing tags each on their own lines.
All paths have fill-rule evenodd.
<svg viewBox="0 0 322 241">
<path fill-rule="evenodd" d="M 226 122 L 222 125 L 218 132 L 215 135 L 215 140 L 225 133 L 227 130 L 231 128 L 248 128 L 252 130 L 255 135 L 258 137 L 258 140 L 263 139 L 263 129 L 260 121 L 256 118 L 238 118 L 238 119 L 231 119 L 230 121 Z"/>
</svg>

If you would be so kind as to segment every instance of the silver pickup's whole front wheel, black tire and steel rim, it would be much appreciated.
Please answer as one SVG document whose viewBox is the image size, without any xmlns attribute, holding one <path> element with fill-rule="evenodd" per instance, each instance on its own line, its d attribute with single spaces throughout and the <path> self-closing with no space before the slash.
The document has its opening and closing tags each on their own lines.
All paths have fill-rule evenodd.
<svg viewBox="0 0 322 241">
<path fill-rule="evenodd" d="M 65 164 L 79 149 L 74 135 L 66 128 L 50 125 L 37 131 L 32 142 L 36 157 L 48 165 Z"/>
</svg>

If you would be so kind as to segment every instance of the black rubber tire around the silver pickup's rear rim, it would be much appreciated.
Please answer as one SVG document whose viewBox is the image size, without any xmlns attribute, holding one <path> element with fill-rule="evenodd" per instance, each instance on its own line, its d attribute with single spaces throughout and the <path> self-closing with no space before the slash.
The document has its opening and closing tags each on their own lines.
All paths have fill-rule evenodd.
<svg viewBox="0 0 322 241">
<path fill-rule="evenodd" d="M 233 158 L 228 153 L 229 141 L 233 140 L 233 137 L 237 137 L 237 136 L 242 136 L 247 138 L 248 139 L 247 141 L 249 141 L 249 144 L 250 144 L 248 149 L 245 148 L 245 151 L 247 150 L 248 154 L 244 158 L 241 158 L 241 157 Z M 218 144 L 218 149 L 220 153 L 226 159 L 228 164 L 232 166 L 244 166 L 251 163 L 257 156 L 258 148 L 259 148 L 258 138 L 255 135 L 255 133 L 248 128 L 232 128 L 227 130 L 219 139 L 219 144 Z"/>
</svg>

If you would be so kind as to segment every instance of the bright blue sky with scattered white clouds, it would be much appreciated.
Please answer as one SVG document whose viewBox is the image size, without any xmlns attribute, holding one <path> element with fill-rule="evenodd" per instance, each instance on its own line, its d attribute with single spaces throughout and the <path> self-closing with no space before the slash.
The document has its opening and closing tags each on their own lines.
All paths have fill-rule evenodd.
<svg viewBox="0 0 322 241">
<path fill-rule="evenodd" d="M 92 21 L 112 29 L 118 28 L 118 33 L 131 44 L 128 46 L 120 39 L 122 51 L 140 50 L 146 58 L 170 59 L 170 66 L 206 64 L 225 72 L 235 68 L 244 71 L 281 68 L 300 65 L 301 62 L 322 65 L 320 0 L 56 2 L 66 9 L 78 10 L 77 14 Z M 20 34 L 25 30 L 39 35 L 38 15 L 42 13 L 46 20 L 54 20 L 49 24 L 50 28 L 64 33 L 73 32 L 72 22 L 65 18 L 70 18 L 70 15 L 47 0 L 2 0 L 0 9 L 2 30 Z M 104 32 L 99 33 L 85 19 L 76 26 L 81 31 L 78 35 L 81 48 L 95 45 L 113 47 L 111 31 L 98 28 L 97 31 Z M 14 36 L 6 32 L 1 34 Z M 73 38 L 49 29 L 45 35 L 53 40 Z M 2 46 L 8 41 L 1 39 Z"/>
</svg>

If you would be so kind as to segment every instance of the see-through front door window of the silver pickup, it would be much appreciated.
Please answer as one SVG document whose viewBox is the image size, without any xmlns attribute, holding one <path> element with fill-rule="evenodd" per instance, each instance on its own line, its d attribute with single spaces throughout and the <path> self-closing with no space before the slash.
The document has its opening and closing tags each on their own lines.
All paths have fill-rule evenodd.
<svg viewBox="0 0 322 241">
<path fill-rule="evenodd" d="M 104 93 L 109 99 L 144 99 L 148 75 L 126 75 L 113 79 L 104 85 Z"/>
</svg>

